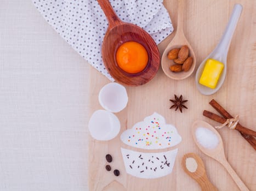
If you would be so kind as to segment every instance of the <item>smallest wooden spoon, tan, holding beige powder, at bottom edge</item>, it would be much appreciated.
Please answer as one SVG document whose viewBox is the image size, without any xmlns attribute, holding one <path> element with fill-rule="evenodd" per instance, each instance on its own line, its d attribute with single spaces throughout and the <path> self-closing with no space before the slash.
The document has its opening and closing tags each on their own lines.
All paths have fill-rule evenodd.
<svg viewBox="0 0 256 191">
<path fill-rule="evenodd" d="M 191 172 L 186 168 L 186 159 L 194 158 L 197 163 L 197 168 L 195 172 Z M 218 189 L 208 180 L 206 175 L 206 169 L 204 168 L 202 159 L 195 153 L 186 153 L 181 160 L 181 166 L 183 166 L 186 174 L 191 176 L 198 184 L 203 191 L 217 191 Z"/>
</svg>

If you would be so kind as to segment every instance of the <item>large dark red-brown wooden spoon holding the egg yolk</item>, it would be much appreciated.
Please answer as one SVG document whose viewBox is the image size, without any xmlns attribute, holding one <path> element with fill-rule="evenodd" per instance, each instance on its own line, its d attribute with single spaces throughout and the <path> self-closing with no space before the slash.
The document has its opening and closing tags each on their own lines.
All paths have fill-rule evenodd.
<svg viewBox="0 0 256 191">
<path fill-rule="evenodd" d="M 111 7 L 109 0 L 98 0 L 98 3 L 109 21 L 109 28 L 107 28 L 101 50 L 107 71 L 113 79 L 124 85 L 139 86 L 149 82 L 160 67 L 160 53 L 155 41 L 142 28 L 132 23 L 122 22 Z M 116 51 L 126 41 L 136 41 L 147 51 L 149 61 L 140 73 L 126 73 L 116 63 Z"/>
</svg>

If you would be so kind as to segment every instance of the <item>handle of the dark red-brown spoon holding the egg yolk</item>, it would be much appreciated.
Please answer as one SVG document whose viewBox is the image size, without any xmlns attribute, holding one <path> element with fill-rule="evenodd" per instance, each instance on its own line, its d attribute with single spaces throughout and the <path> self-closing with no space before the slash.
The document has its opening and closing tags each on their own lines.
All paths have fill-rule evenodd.
<svg viewBox="0 0 256 191">
<path fill-rule="evenodd" d="M 113 10 L 109 0 L 98 0 L 98 3 L 106 15 L 107 21 L 109 21 L 109 29 L 122 22 Z"/>
</svg>

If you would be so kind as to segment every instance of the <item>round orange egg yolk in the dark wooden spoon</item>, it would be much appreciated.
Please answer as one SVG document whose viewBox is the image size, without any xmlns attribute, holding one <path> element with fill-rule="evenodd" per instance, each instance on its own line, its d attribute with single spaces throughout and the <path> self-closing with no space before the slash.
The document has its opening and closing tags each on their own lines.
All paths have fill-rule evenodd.
<svg viewBox="0 0 256 191">
<path fill-rule="evenodd" d="M 136 74 L 144 70 L 149 56 L 143 45 L 135 41 L 128 41 L 118 47 L 116 61 L 118 66 L 130 74 Z"/>
</svg>

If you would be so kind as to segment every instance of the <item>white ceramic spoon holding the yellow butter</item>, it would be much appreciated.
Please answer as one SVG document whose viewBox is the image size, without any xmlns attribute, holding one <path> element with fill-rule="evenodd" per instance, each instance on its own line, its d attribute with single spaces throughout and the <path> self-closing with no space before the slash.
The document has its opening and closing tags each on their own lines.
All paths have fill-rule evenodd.
<svg viewBox="0 0 256 191">
<path fill-rule="evenodd" d="M 242 13 L 242 5 L 241 4 L 235 4 L 234 9 L 232 11 L 231 17 L 229 19 L 229 23 L 227 23 L 225 32 L 223 36 L 221 37 L 221 40 L 219 41 L 219 44 L 215 47 L 215 49 L 204 59 L 204 61 L 200 64 L 200 66 L 197 69 L 196 72 L 196 86 L 197 89 L 205 96 L 209 96 L 211 94 L 214 94 L 219 90 L 219 88 L 223 85 L 223 82 L 226 78 L 226 59 L 227 59 L 227 52 L 229 51 L 229 46 L 231 43 L 232 36 L 235 32 L 237 22 L 241 16 Z M 220 61 L 224 64 L 223 72 L 220 75 L 219 81 L 217 83 L 217 86 L 212 89 L 206 86 L 203 86 L 199 83 L 199 79 L 202 75 L 204 64 L 206 63 L 206 60 L 208 58 L 216 59 L 217 61 Z"/>
</svg>

